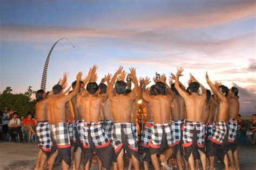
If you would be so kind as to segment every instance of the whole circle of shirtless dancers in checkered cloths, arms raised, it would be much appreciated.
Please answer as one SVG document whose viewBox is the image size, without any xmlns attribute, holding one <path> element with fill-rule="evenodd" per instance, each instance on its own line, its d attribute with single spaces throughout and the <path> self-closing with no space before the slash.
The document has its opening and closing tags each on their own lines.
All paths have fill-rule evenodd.
<svg viewBox="0 0 256 170">
<path fill-rule="evenodd" d="M 56 157 L 62 159 L 62 169 L 90 169 L 93 153 L 99 169 L 124 169 L 124 157 L 129 157 L 128 169 L 142 168 L 140 157 L 144 169 L 150 169 L 150 162 L 154 169 L 171 169 L 172 159 L 178 169 L 196 169 L 199 161 L 203 169 L 214 169 L 215 156 L 225 169 L 239 169 L 236 87 L 212 83 L 206 73 L 213 95 L 191 74 L 186 89 L 179 81 L 183 68 L 171 74 L 169 82 L 157 74 L 147 87 L 149 77 L 138 81 L 136 69 L 130 68 L 126 76 L 121 66 L 97 84 L 96 70 L 90 68 L 84 79 L 79 72 L 72 90 L 64 74 L 47 94 L 36 92 L 41 150 L 35 169 L 52 169 Z M 141 141 L 136 125 L 139 100 L 146 108 Z"/>
</svg>

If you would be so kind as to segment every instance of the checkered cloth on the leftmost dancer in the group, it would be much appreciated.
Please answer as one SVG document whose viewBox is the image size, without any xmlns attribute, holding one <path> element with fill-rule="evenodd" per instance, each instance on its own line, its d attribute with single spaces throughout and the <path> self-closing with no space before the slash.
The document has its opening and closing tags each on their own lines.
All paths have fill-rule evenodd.
<svg viewBox="0 0 256 170">
<path fill-rule="evenodd" d="M 49 122 L 37 122 L 36 135 L 38 138 L 38 146 L 46 152 L 51 151 L 52 141 Z"/>
</svg>

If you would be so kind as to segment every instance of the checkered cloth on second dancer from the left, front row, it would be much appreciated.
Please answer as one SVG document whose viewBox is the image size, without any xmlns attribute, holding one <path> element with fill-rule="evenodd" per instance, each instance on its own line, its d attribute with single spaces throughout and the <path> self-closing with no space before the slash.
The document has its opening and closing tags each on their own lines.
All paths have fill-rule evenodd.
<svg viewBox="0 0 256 170">
<path fill-rule="evenodd" d="M 66 122 L 51 124 L 51 139 L 56 141 L 58 148 L 71 146 Z"/>
</svg>

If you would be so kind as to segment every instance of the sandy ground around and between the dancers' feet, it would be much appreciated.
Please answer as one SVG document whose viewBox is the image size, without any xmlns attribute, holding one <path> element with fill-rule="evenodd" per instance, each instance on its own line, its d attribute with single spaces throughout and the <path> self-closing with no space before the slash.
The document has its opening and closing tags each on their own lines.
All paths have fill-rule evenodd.
<svg viewBox="0 0 256 170">
<path fill-rule="evenodd" d="M 36 144 L 0 143 L 0 169 L 33 169 L 35 167 L 38 150 L 39 148 Z M 255 154 L 256 146 L 240 146 L 240 168 L 246 170 L 256 170 Z M 215 165 L 216 170 L 223 169 L 223 165 L 221 165 L 219 162 L 216 162 Z M 56 166 L 54 169 L 62 168 L 61 166 Z M 153 169 L 152 166 L 150 169 Z"/>
</svg>

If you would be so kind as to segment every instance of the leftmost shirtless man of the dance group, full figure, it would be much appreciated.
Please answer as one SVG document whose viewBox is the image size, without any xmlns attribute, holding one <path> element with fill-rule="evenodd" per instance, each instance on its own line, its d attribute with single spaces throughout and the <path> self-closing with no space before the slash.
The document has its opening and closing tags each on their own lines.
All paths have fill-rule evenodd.
<svg viewBox="0 0 256 170">
<path fill-rule="evenodd" d="M 46 98 L 46 94 L 44 90 L 37 90 L 36 92 L 36 134 L 37 134 L 37 141 L 38 146 L 41 150 L 38 153 L 37 162 L 40 169 L 44 169 L 45 162 L 51 153 L 51 137 L 50 137 L 50 125 L 49 125 L 49 118 L 50 116 L 47 115 L 47 107 L 50 97 Z M 35 169 L 37 169 L 36 167 Z"/>
</svg>

